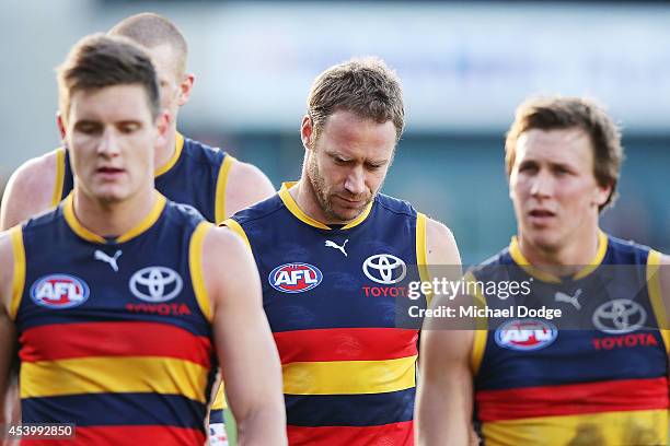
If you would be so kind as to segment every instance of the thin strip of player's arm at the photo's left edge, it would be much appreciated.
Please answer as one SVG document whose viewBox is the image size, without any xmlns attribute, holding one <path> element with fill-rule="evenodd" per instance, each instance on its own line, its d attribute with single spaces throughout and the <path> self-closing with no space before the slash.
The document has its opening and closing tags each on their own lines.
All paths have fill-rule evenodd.
<svg viewBox="0 0 670 446">
<path fill-rule="evenodd" d="M 14 400 L 8 395 L 12 380 L 11 371 L 16 347 L 14 322 L 10 318 L 14 258 L 12 244 L 7 232 L 0 233 L 0 424 L 12 420 Z M 0 438 L 0 444 L 2 438 Z"/>
</svg>

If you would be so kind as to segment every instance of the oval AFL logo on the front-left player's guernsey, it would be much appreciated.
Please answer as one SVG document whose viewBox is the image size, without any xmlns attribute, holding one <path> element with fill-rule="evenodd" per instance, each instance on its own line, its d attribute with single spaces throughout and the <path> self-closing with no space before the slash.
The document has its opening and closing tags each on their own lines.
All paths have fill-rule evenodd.
<svg viewBox="0 0 670 446">
<path fill-rule="evenodd" d="M 49 274 L 31 286 L 34 303 L 48 308 L 72 308 L 86 302 L 89 285 L 70 274 Z"/>
</svg>

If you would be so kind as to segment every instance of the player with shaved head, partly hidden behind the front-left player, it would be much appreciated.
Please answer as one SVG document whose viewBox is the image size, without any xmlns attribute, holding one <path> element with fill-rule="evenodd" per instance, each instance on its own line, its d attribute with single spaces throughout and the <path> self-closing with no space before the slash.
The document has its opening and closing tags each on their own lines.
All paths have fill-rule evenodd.
<svg viewBox="0 0 670 446">
<path fill-rule="evenodd" d="M 146 47 L 157 68 L 161 107 L 172 117 L 165 141 L 155 150 L 155 187 L 161 193 L 190 204 L 210 222 L 220 223 L 275 192 L 255 166 L 177 132 L 177 113 L 190 97 L 195 75 L 186 72 L 186 39 L 170 20 L 141 13 L 123 20 L 109 34 L 128 37 Z M 73 176 L 66 149 L 30 160 L 14 172 L 2 199 L 0 228 L 7 230 L 51 209 L 68 196 Z"/>
</svg>

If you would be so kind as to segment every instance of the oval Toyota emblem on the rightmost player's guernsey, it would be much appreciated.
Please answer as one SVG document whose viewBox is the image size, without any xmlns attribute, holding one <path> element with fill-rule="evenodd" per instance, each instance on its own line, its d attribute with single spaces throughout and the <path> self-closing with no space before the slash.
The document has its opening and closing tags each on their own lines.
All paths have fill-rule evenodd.
<svg viewBox="0 0 670 446">
<path fill-rule="evenodd" d="M 647 321 L 647 312 L 637 302 L 617 298 L 605 302 L 593 312 L 593 325 L 610 334 L 629 333 Z"/>
</svg>

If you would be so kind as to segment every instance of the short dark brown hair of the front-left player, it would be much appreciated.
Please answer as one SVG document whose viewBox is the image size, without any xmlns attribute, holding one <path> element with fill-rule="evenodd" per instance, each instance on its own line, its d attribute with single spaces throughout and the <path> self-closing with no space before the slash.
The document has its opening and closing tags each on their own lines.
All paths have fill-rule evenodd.
<svg viewBox="0 0 670 446">
<path fill-rule="evenodd" d="M 139 84 L 147 92 L 151 115 L 161 109 L 155 70 L 149 56 L 124 37 L 93 34 L 72 47 L 57 69 L 60 111 L 67 120 L 72 95 L 81 90 Z"/>
</svg>

